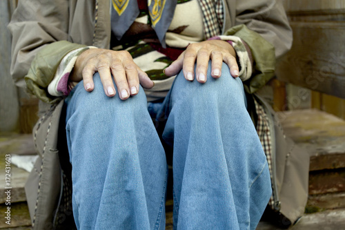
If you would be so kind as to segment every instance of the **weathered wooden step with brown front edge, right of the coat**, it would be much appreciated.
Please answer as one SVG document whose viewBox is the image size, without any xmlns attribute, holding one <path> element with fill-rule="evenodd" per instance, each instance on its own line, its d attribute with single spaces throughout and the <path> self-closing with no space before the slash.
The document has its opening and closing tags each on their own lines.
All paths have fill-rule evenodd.
<svg viewBox="0 0 345 230">
<path fill-rule="evenodd" d="M 345 168 L 345 121 L 317 109 L 277 113 L 286 136 L 311 156 L 310 171 Z"/>
</svg>

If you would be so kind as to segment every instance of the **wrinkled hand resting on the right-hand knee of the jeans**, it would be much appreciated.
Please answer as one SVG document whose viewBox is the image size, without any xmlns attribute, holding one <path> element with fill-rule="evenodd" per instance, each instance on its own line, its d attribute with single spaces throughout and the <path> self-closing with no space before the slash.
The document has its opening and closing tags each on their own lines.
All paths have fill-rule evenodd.
<svg viewBox="0 0 345 230">
<path fill-rule="evenodd" d="M 239 76 L 239 68 L 236 61 L 236 52 L 228 41 L 207 40 L 197 44 L 190 44 L 179 57 L 168 66 L 164 73 L 167 76 L 177 75 L 183 69 L 184 77 L 188 81 L 193 81 L 196 77 L 200 83 L 206 82 L 208 61 L 211 60 L 211 76 L 218 78 L 221 76 L 221 65 L 225 62 L 233 77 Z M 194 73 L 195 63 L 197 64 Z"/>
</svg>

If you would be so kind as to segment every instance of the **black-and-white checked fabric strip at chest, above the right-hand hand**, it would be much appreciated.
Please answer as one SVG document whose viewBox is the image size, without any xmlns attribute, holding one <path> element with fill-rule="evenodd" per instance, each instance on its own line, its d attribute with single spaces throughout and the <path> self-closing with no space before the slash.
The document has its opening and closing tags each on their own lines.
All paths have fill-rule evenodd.
<svg viewBox="0 0 345 230">
<path fill-rule="evenodd" d="M 224 8 L 221 0 L 199 0 L 204 22 L 205 39 L 221 35 Z"/>
</svg>

